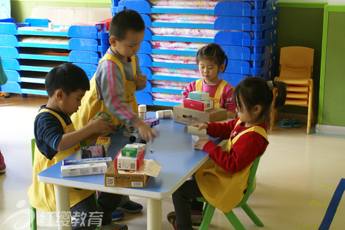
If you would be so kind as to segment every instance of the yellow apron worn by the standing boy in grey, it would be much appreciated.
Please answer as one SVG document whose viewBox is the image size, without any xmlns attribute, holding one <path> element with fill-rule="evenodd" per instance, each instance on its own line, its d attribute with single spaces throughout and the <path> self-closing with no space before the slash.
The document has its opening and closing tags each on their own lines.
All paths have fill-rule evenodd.
<svg viewBox="0 0 345 230">
<path fill-rule="evenodd" d="M 134 76 L 135 81 L 127 81 L 124 72 L 124 66 L 122 65 L 121 61 L 117 59 L 116 56 L 112 54 L 106 54 L 103 56 L 101 61 L 105 60 L 111 60 L 117 66 L 119 66 L 122 73 L 122 81 L 124 83 L 124 100 L 127 103 L 127 105 L 132 107 L 133 111 L 138 114 L 137 98 L 135 98 L 135 90 L 137 88 L 137 75 L 135 74 Z M 101 63 L 101 61 L 99 61 L 99 63 Z M 136 73 L 135 56 L 132 56 L 132 67 L 133 73 Z M 81 127 L 88 125 L 88 122 L 92 118 L 95 118 L 99 112 L 106 112 L 107 114 L 111 115 L 104 101 L 99 101 L 98 98 L 99 94 L 97 91 L 96 80 L 94 75 L 90 80 L 90 90 L 86 92 L 85 96 L 83 96 L 79 110 L 71 116 L 72 122 L 73 124 L 75 124 L 76 129 L 81 129 Z M 120 121 L 115 116 L 111 116 L 110 120 L 112 124 L 116 126 L 116 130 L 121 129 L 121 127 L 125 125 L 124 121 Z M 86 140 L 86 142 L 88 145 L 90 145 L 91 143 L 94 143 L 99 136 L 107 135 L 108 134 L 93 135 L 90 136 Z"/>
</svg>

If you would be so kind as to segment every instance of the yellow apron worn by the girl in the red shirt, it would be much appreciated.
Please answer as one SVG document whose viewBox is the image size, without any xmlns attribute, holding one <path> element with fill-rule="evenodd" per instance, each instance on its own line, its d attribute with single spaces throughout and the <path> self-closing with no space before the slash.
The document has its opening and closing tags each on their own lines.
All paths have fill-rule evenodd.
<svg viewBox="0 0 345 230">
<path fill-rule="evenodd" d="M 236 126 L 240 123 L 241 121 L 239 120 Z M 238 138 L 248 132 L 257 132 L 268 140 L 267 133 L 263 127 L 253 126 L 238 134 L 233 140 L 229 139 L 226 151 L 230 152 Z M 244 190 L 248 187 L 247 180 L 252 165 L 253 163 L 250 163 L 244 169 L 232 174 L 219 167 L 213 160 L 210 160 L 201 165 L 195 172 L 195 180 L 197 180 L 197 185 L 204 198 L 217 209 L 228 213 L 244 197 Z"/>
</svg>

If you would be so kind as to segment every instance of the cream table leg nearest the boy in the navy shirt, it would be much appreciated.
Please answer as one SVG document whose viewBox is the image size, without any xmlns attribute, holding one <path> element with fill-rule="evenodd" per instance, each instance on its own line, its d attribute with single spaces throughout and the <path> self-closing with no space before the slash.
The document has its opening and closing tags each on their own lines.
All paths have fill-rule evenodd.
<svg viewBox="0 0 345 230">
<path fill-rule="evenodd" d="M 71 230 L 70 223 L 70 191 L 68 187 L 54 185 L 57 202 L 57 223 L 59 230 Z M 67 226 L 66 226 L 67 225 Z"/>
</svg>

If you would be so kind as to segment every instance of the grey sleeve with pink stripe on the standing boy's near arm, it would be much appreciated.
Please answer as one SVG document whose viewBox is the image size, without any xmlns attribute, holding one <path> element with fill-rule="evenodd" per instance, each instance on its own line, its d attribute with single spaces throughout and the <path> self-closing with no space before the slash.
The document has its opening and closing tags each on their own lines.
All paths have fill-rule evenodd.
<svg viewBox="0 0 345 230">
<path fill-rule="evenodd" d="M 139 121 L 139 116 L 124 101 L 124 83 L 119 67 L 110 60 L 102 61 L 96 76 L 99 100 L 103 100 L 110 114 L 129 125 Z"/>
</svg>

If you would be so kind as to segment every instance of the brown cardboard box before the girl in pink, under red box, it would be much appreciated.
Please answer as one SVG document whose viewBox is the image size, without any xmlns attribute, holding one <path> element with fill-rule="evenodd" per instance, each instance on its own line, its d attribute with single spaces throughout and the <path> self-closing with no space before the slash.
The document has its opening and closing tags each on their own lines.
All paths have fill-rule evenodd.
<svg viewBox="0 0 345 230">
<path fill-rule="evenodd" d="M 223 121 L 227 119 L 226 109 L 221 109 L 218 107 L 207 111 L 198 111 L 195 109 L 186 108 L 184 105 L 175 105 L 173 109 L 174 121 L 185 125 Z"/>
</svg>

